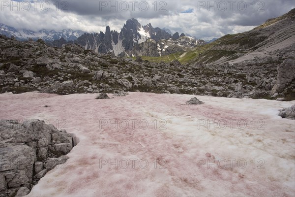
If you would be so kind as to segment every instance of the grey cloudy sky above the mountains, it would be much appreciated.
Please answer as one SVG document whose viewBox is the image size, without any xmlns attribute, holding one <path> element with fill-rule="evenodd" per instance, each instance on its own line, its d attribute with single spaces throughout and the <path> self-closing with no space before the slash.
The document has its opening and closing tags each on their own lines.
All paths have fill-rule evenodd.
<svg viewBox="0 0 295 197">
<path fill-rule="evenodd" d="M 0 23 L 16 29 L 120 32 L 136 18 L 200 39 L 253 29 L 295 8 L 295 0 L 0 0 Z"/>
</svg>

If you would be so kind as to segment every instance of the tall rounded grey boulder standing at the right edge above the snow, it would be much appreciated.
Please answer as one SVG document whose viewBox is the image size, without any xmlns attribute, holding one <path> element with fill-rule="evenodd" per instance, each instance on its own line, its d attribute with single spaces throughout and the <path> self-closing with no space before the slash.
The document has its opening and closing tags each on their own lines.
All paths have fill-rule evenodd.
<svg viewBox="0 0 295 197">
<path fill-rule="evenodd" d="M 281 93 L 293 79 L 295 79 L 295 60 L 284 60 L 284 62 L 278 66 L 277 80 L 271 90 L 272 94 Z"/>
</svg>

